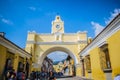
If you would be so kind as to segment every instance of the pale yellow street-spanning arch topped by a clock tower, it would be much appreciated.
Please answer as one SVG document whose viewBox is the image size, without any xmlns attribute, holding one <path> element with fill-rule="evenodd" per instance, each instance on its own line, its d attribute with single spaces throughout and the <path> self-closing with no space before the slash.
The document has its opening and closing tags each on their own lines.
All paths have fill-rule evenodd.
<svg viewBox="0 0 120 80">
<path fill-rule="evenodd" d="M 52 21 L 51 33 L 29 32 L 26 51 L 32 54 L 32 70 L 40 70 L 44 58 L 51 52 L 66 52 L 74 60 L 76 75 L 80 75 L 80 57 L 78 53 L 87 45 L 87 32 L 64 33 L 64 22 L 60 16 Z"/>
</svg>

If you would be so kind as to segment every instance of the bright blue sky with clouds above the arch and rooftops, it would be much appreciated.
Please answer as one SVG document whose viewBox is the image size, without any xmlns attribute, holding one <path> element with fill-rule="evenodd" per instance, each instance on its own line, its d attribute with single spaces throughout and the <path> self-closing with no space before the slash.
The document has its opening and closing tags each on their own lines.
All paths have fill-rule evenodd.
<svg viewBox="0 0 120 80">
<path fill-rule="evenodd" d="M 119 12 L 120 0 L 0 0 L 0 32 L 25 48 L 28 31 L 51 33 L 59 14 L 65 33 L 94 38 Z"/>
</svg>

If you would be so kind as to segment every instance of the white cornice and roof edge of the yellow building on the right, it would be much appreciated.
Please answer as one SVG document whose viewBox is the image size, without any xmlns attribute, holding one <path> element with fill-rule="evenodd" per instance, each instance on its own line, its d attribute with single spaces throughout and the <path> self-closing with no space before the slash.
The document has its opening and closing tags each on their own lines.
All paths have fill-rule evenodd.
<svg viewBox="0 0 120 80">
<path fill-rule="evenodd" d="M 108 24 L 107 27 L 103 31 L 101 31 L 101 33 L 98 34 L 98 36 L 96 36 L 94 40 L 79 53 L 80 56 L 88 55 L 90 50 L 92 50 L 95 47 L 100 47 L 100 45 L 105 43 L 109 37 L 111 37 L 119 30 L 120 14 L 115 19 L 113 19 L 113 21 L 111 21 L 111 23 Z"/>
</svg>

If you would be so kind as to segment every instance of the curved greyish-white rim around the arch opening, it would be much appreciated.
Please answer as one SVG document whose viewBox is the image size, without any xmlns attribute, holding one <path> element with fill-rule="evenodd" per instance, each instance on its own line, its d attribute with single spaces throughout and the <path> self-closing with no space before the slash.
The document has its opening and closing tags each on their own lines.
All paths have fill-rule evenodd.
<svg viewBox="0 0 120 80">
<path fill-rule="evenodd" d="M 77 57 L 67 48 L 65 47 L 52 47 L 52 48 L 49 48 L 48 50 L 46 50 L 43 54 L 40 55 L 39 57 L 39 61 L 38 61 L 38 64 L 40 65 L 40 67 L 42 67 L 42 63 L 44 62 L 46 56 L 48 54 L 50 54 L 51 52 L 55 52 L 55 51 L 62 51 L 62 52 L 65 52 L 66 54 L 69 55 L 69 57 L 71 59 L 73 59 L 74 61 L 74 76 L 76 75 L 76 70 L 75 70 L 75 65 L 78 64 L 78 60 L 77 60 Z M 59 58 L 59 57 L 58 57 Z"/>
</svg>

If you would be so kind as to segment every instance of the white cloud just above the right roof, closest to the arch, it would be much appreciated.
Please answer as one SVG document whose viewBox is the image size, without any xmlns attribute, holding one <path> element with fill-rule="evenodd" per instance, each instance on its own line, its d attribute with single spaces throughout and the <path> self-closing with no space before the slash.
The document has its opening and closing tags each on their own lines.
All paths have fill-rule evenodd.
<svg viewBox="0 0 120 80">
<path fill-rule="evenodd" d="M 93 29 L 95 30 L 95 36 L 97 36 L 103 29 L 104 27 L 102 25 L 100 25 L 99 23 L 96 22 L 91 22 Z"/>
</svg>

